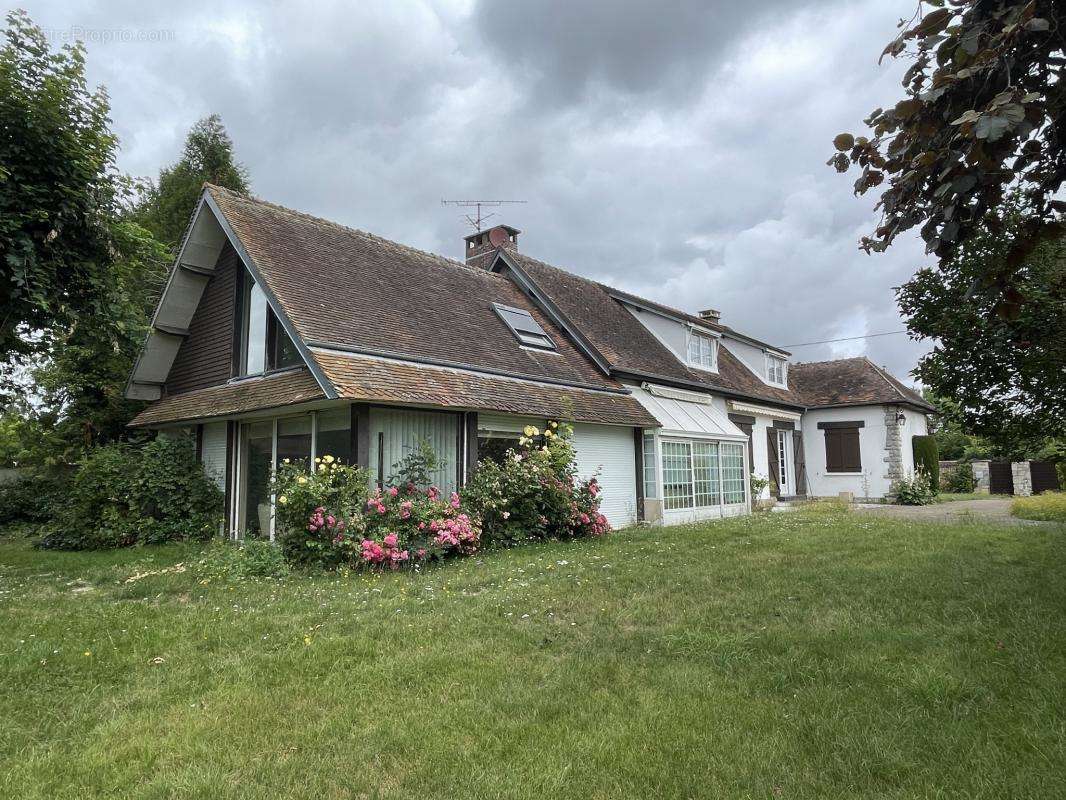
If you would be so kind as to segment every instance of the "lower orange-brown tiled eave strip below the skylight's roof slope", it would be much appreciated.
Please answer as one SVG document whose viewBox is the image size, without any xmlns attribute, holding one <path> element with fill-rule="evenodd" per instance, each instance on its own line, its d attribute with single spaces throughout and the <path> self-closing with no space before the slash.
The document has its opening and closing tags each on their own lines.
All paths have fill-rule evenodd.
<svg viewBox="0 0 1066 800">
<path fill-rule="evenodd" d="M 659 427 L 643 405 L 620 391 L 581 389 L 334 351 L 313 350 L 312 354 L 340 396 L 349 400 Z"/>
</svg>

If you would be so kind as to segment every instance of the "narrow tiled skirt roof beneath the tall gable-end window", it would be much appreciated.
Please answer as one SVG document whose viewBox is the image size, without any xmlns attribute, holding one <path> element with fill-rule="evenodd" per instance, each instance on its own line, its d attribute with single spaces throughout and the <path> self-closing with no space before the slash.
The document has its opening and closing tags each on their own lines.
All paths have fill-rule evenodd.
<svg viewBox="0 0 1066 800">
<path fill-rule="evenodd" d="M 138 414 L 130 427 L 223 417 L 261 409 L 324 398 L 314 377 L 306 369 L 195 389 L 157 400 Z"/>
</svg>

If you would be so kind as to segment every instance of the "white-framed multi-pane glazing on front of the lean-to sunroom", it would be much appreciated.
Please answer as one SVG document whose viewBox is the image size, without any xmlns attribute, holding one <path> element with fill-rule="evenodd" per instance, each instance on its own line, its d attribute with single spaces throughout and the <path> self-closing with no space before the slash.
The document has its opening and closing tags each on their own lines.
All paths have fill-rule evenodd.
<svg viewBox="0 0 1066 800">
<path fill-rule="evenodd" d="M 663 439 L 662 462 L 667 511 L 744 502 L 742 444 Z"/>
</svg>

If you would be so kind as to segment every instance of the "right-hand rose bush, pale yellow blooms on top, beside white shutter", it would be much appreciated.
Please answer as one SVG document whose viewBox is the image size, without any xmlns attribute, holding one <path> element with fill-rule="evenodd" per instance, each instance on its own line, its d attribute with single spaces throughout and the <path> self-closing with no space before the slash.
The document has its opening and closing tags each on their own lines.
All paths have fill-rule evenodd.
<svg viewBox="0 0 1066 800">
<path fill-rule="evenodd" d="M 577 478 L 571 435 L 569 426 L 558 422 L 543 433 L 529 426 L 501 464 L 478 465 L 463 500 L 481 518 L 486 540 L 510 545 L 611 529 L 599 511 L 596 478 Z"/>
</svg>

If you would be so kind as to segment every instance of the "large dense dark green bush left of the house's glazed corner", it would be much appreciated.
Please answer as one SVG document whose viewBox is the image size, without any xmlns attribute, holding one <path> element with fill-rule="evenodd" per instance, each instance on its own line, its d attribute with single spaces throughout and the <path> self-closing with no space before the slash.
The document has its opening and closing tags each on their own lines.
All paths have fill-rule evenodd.
<svg viewBox="0 0 1066 800">
<path fill-rule="evenodd" d="M 38 547 L 103 549 L 204 540 L 219 531 L 222 492 L 188 437 L 97 448 L 54 505 Z"/>
</svg>

